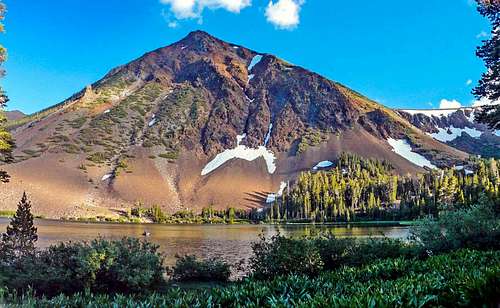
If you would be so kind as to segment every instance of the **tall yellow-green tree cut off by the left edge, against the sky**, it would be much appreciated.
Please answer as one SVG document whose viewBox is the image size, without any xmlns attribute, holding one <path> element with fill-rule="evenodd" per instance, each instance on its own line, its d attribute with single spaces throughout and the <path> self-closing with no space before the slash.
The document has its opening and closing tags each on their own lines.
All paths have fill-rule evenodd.
<svg viewBox="0 0 500 308">
<path fill-rule="evenodd" d="M 4 32 L 3 19 L 5 16 L 5 4 L 0 0 L 0 33 Z M 5 70 L 2 64 L 7 59 L 7 50 L 0 45 L 0 78 L 5 76 Z M 14 148 L 14 139 L 5 128 L 7 118 L 5 117 L 4 108 L 7 105 L 9 98 L 5 91 L 0 87 L 0 164 L 12 162 L 12 149 Z M 9 181 L 10 176 L 6 171 L 0 169 L 0 183 Z"/>
</svg>

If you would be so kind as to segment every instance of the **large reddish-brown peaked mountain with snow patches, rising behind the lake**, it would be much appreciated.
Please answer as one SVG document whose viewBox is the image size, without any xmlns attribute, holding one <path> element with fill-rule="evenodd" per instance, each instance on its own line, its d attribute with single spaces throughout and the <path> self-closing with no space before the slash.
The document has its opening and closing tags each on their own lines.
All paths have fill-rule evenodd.
<svg viewBox="0 0 500 308">
<path fill-rule="evenodd" d="M 403 174 L 468 157 L 340 83 L 201 31 L 10 129 L 18 147 L 1 206 L 26 190 L 57 218 L 262 206 L 341 152 Z"/>
</svg>

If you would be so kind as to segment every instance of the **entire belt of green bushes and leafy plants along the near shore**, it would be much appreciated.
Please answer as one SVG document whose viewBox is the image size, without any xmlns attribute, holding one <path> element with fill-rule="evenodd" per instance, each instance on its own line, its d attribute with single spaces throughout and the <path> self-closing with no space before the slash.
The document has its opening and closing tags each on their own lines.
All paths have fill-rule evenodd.
<svg viewBox="0 0 500 308">
<path fill-rule="evenodd" d="M 418 222 L 409 241 L 262 237 L 247 278 L 208 289 L 177 283 L 226 282 L 229 264 L 179 257 L 167 270 L 168 283 L 155 245 L 134 239 L 59 244 L 1 263 L 0 301 L 23 307 L 494 305 L 500 294 L 495 209 L 488 202 L 448 209 L 438 220 Z"/>
</svg>

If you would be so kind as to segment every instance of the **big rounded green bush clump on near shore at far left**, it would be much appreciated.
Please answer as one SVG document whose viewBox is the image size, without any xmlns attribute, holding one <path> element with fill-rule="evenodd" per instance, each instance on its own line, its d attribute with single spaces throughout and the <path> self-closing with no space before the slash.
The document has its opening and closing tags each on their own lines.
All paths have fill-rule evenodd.
<svg viewBox="0 0 500 308">
<path fill-rule="evenodd" d="M 4 268 L 9 289 L 48 296 L 86 289 L 97 293 L 143 293 L 164 284 L 158 246 L 133 238 L 60 243 Z"/>
</svg>

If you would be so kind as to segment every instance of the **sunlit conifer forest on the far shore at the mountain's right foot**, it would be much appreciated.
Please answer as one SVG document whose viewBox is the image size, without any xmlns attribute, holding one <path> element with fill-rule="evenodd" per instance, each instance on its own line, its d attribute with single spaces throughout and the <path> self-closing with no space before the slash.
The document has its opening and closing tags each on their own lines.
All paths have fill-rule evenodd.
<svg viewBox="0 0 500 308">
<path fill-rule="evenodd" d="M 295 186 L 265 215 L 268 221 L 278 222 L 413 220 L 468 208 L 481 198 L 500 204 L 498 163 L 473 159 L 462 170 L 412 177 L 394 174 L 385 161 L 342 154 L 331 170 L 300 174 Z"/>
</svg>

